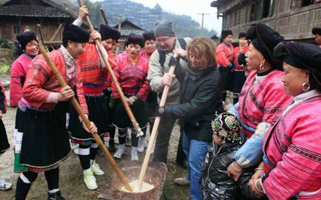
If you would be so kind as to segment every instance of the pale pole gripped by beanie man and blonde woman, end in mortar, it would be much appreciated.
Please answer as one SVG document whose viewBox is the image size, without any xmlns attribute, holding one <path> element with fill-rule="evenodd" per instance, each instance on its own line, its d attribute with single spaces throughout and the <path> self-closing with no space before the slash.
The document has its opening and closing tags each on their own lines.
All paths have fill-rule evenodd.
<svg viewBox="0 0 321 200">
<path fill-rule="evenodd" d="M 176 56 L 177 55 L 175 54 L 174 57 L 176 57 Z M 175 65 L 171 65 L 170 70 L 169 70 L 169 74 L 173 75 L 174 74 L 174 70 L 175 70 Z M 165 85 L 164 91 L 163 91 L 163 94 L 162 94 L 162 98 L 161 98 L 161 102 L 159 102 L 159 107 L 163 107 L 165 105 L 165 102 L 166 102 L 166 99 L 167 99 L 167 95 L 169 93 L 169 89 L 170 89 L 170 86 L 169 85 Z M 150 151 L 151 151 L 151 148 L 152 148 L 152 144 L 153 144 L 153 142 L 155 140 L 160 121 L 161 121 L 161 116 L 156 116 L 154 125 L 153 125 L 152 130 L 151 130 L 151 134 L 150 134 L 150 137 L 149 137 L 149 141 L 148 141 L 148 145 L 147 145 L 144 161 L 142 163 L 142 167 L 141 167 L 139 178 L 138 178 L 138 191 L 140 191 L 140 189 L 141 189 L 141 185 L 142 185 L 142 182 L 143 182 L 143 179 L 144 179 L 144 175 L 145 175 L 145 172 L 146 172 L 146 169 L 147 169 L 147 165 L 148 165 L 148 160 L 149 160 L 149 157 L 150 157 Z"/>
</svg>

